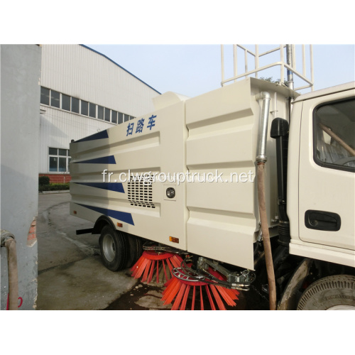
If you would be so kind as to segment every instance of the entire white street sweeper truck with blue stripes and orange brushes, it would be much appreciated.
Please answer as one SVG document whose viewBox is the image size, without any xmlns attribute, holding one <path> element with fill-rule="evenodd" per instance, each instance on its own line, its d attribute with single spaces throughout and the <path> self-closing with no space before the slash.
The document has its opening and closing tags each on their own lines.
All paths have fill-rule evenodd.
<svg viewBox="0 0 355 355">
<path fill-rule="evenodd" d="M 161 271 L 173 309 L 253 283 L 271 310 L 355 309 L 355 82 L 300 95 L 276 65 L 70 144 L 77 233 L 111 271 Z"/>
</svg>

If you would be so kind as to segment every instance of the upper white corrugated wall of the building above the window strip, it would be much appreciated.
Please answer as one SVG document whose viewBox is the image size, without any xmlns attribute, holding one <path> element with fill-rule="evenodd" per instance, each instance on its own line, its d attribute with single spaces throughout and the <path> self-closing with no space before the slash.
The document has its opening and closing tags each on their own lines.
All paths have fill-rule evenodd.
<svg viewBox="0 0 355 355">
<path fill-rule="evenodd" d="M 43 45 L 43 87 L 131 116 L 153 111 L 158 92 L 82 45 Z"/>
</svg>

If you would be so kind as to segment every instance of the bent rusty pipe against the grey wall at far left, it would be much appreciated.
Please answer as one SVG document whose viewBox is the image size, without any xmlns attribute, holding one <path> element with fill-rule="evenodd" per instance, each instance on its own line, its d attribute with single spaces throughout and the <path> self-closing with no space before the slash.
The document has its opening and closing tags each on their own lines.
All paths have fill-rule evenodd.
<svg viewBox="0 0 355 355">
<path fill-rule="evenodd" d="M 18 310 L 18 270 L 16 240 L 9 231 L 1 229 L 0 245 L 6 247 L 9 272 L 9 310 Z"/>
</svg>

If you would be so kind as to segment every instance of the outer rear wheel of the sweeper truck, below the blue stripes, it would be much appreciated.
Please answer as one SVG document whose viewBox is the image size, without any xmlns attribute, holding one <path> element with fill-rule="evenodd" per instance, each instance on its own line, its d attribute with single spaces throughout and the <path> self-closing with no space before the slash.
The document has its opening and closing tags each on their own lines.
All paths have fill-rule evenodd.
<svg viewBox="0 0 355 355">
<path fill-rule="evenodd" d="M 119 271 L 126 266 L 128 258 L 127 240 L 111 226 L 104 226 L 99 239 L 102 262 L 111 271 Z"/>
</svg>

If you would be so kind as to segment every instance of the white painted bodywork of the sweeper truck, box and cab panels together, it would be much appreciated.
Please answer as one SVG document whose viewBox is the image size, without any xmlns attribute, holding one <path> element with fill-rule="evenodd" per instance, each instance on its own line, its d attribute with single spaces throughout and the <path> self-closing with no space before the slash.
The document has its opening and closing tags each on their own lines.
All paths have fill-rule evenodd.
<svg viewBox="0 0 355 355">
<path fill-rule="evenodd" d="M 312 143 L 315 108 L 351 98 L 354 103 L 354 83 L 299 96 L 283 85 L 247 78 L 191 99 L 163 94 L 154 112 L 70 144 L 70 214 L 92 222 L 104 215 L 120 231 L 253 270 L 260 230 L 254 179 L 261 92 L 271 95 L 268 132 L 275 117 L 290 121 L 290 253 L 354 267 L 354 171 L 315 163 Z M 291 119 L 289 97 L 295 98 Z M 354 124 L 346 128 L 350 135 L 353 130 L 349 139 Z M 276 156 L 269 134 L 267 156 L 266 209 L 275 236 Z M 169 188 L 175 190 L 171 198 Z M 335 212 L 342 226 L 310 229 L 307 210 Z"/>
</svg>

